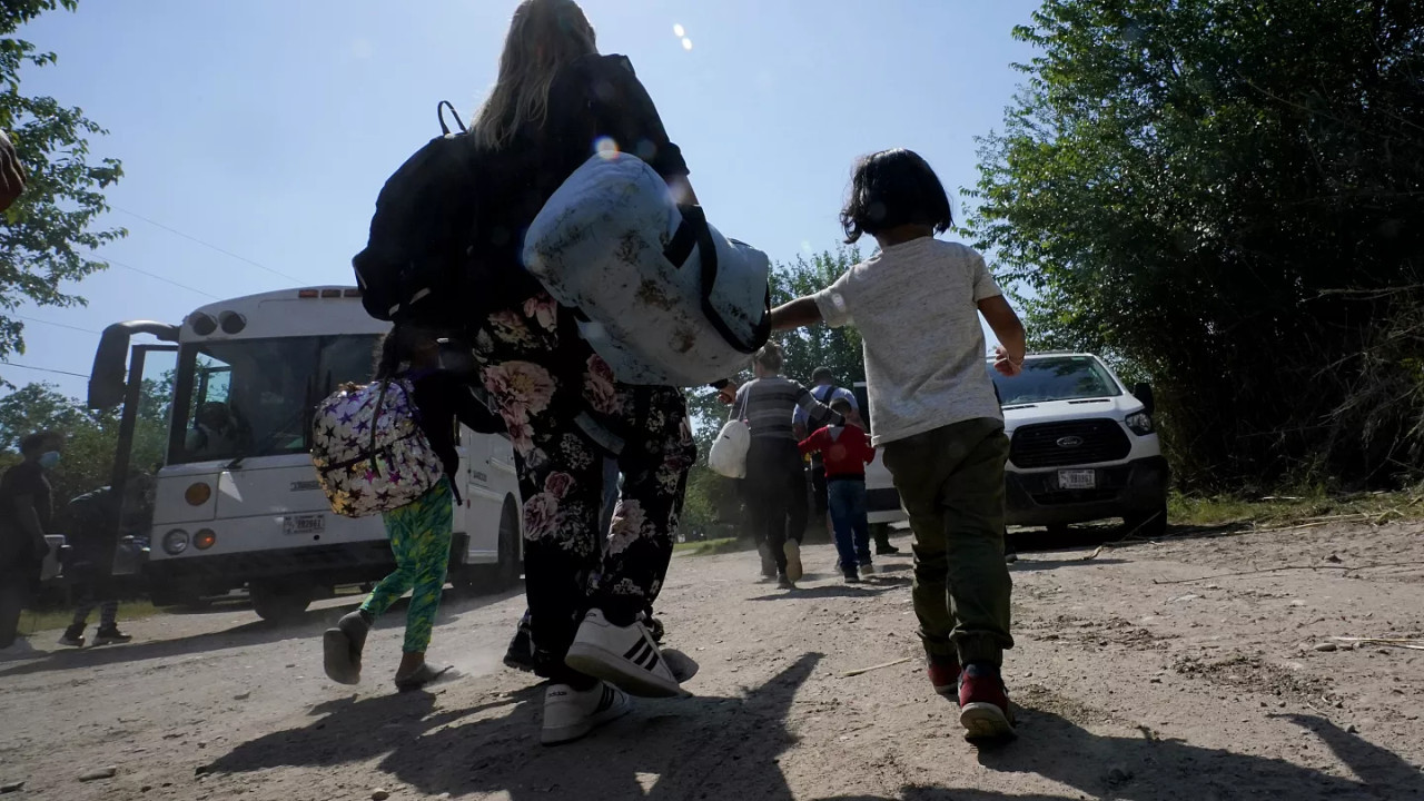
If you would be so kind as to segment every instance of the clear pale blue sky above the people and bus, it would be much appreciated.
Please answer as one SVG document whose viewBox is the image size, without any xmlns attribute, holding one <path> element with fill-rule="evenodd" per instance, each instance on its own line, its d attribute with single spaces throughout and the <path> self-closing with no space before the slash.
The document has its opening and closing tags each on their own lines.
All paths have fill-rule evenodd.
<svg viewBox="0 0 1424 801">
<path fill-rule="evenodd" d="M 1001 125 L 1020 80 L 1010 63 L 1031 56 L 1011 29 L 1037 4 L 584 1 L 601 50 L 632 58 L 712 221 L 778 261 L 836 245 L 860 154 L 910 147 L 951 192 L 973 185 L 974 137 Z M 91 148 L 124 161 L 110 221 L 130 235 L 103 255 L 218 298 L 295 285 L 276 274 L 350 284 L 382 182 L 439 133 L 437 101 L 468 120 L 514 6 L 83 0 L 20 31 L 60 56 L 26 71 L 23 91 L 80 105 L 111 131 Z M 98 331 L 177 322 L 211 301 L 122 268 L 77 291 L 87 308 L 21 314 Z M 26 339 L 14 362 L 87 375 L 98 338 L 28 324 Z M 3 375 L 77 396 L 85 385 Z"/>
</svg>

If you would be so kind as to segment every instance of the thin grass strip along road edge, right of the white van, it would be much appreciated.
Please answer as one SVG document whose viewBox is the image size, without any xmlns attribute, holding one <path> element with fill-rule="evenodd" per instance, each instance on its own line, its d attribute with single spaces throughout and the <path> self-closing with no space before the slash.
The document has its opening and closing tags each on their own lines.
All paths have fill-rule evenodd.
<svg viewBox="0 0 1424 801">
<path fill-rule="evenodd" d="M 1424 495 L 1380 492 L 1356 495 L 1282 493 L 1267 497 L 1172 495 L 1168 519 L 1175 526 L 1250 524 L 1257 529 L 1312 523 L 1373 523 L 1424 517 Z"/>
</svg>

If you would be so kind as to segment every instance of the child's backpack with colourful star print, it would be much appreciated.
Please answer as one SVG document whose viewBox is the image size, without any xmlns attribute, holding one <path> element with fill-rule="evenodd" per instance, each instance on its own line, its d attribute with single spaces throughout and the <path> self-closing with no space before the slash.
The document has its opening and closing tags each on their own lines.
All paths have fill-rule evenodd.
<svg viewBox="0 0 1424 801">
<path fill-rule="evenodd" d="M 312 419 L 312 463 L 332 512 L 346 517 L 400 509 L 444 472 L 404 378 L 347 383 L 322 400 Z"/>
</svg>

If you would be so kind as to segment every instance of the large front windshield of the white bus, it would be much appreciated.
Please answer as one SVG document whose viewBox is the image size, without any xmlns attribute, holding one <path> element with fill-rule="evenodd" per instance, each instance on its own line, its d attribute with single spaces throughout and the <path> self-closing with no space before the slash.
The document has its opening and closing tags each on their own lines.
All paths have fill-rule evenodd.
<svg viewBox="0 0 1424 801">
<path fill-rule="evenodd" d="M 377 335 L 191 342 L 178 361 L 169 465 L 305 453 L 310 412 L 366 383 Z"/>
</svg>

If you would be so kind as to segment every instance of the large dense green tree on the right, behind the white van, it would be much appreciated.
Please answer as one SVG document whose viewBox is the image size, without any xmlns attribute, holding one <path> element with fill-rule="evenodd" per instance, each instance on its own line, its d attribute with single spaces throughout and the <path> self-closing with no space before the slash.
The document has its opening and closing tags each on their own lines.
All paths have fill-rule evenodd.
<svg viewBox="0 0 1424 801">
<path fill-rule="evenodd" d="M 1034 345 L 1152 376 L 1189 485 L 1418 465 L 1421 393 L 1354 400 L 1418 341 L 1377 332 L 1421 301 L 1424 6 L 1047 0 L 1014 33 L 968 228 Z"/>
</svg>

